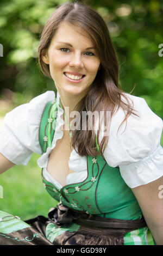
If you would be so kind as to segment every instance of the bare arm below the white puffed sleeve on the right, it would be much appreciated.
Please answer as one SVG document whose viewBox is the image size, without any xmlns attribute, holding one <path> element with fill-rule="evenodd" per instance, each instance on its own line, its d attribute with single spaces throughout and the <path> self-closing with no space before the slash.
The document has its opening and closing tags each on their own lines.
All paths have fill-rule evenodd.
<svg viewBox="0 0 163 256">
<path fill-rule="evenodd" d="M 163 245 L 163 176 L 131 190 L 135 194 L 156 245 Z"/>
</svg>

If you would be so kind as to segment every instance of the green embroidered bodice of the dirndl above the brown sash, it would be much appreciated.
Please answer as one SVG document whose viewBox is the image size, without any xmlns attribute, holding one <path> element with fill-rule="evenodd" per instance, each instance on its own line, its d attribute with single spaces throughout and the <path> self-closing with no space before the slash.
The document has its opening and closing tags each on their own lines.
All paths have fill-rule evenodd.
<svg viewBox="0 0 163 256">
<path fill-rule="evenodd" d="M 120 169 L 110 167 L 98 155 L 87 156 L 87 178 L 59 189 L 42 175 L 47 192 L 68 208 L 102 217 L 136 220 L 141 210 L 137 200 L 121 177 Z"/>
</svg>

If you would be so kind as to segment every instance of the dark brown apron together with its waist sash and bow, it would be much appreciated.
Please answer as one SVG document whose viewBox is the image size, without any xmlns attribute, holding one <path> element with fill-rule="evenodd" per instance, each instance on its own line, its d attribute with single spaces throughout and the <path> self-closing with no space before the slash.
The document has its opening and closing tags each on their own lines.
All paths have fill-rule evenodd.
<svg viewBox="0 0 163 256">
<path fill-rule="evenodd" d="M 124 235 L 140 227 L 146 227 L 142 218 L 137 221 L 118 220 L 89 216 L 71 211 L 65 206 L 53 208 L 48 218 L 37 216 L 25 221 L 30 225 L 9 234 L 0 233 L 0 245 L 124 245 Z M 74 222 L 80 227 L 77 231 L 65 231 L 54 242 L 47 240 L 46 226 L 53 222 L 56 227 L 66 227 Z"/>
</svg>

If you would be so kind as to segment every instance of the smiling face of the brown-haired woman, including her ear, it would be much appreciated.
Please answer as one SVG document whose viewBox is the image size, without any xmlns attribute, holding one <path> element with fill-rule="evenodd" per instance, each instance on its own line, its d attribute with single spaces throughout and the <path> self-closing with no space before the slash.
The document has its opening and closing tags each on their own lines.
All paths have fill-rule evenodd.
<svg viewBox="0 0 163 256">
<path fill-rule="evenodd" d="M 85 96 L 95 80 L 100 60 L 91 39 L 80 27 L 61 23 L 42 60 L 49 64 L 56 88 Z"/>
</svg>

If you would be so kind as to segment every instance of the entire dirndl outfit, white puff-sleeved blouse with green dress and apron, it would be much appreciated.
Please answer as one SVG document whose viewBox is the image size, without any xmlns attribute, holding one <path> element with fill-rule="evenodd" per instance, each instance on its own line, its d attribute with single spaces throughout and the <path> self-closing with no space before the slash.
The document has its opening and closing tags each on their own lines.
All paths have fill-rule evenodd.
<svg viewBox="0 0 163 256">
<path fill-rule="evenodd" d="M 130 116 L 128 131 L 119 140 L 117 129 L 124 113 L 118 109 L 111 121 L 110 144 L 104 152 L 106 161 L 100 155 L 87 156 L 86 162 L 81 157 L 80 167 L 87 164 L 86 178 L 62 188 L 42 172 L 43 186 L 58 206 L 52 205 L 47 216 L 24 221 L 0 211 L 0 245 L 155 245 L 131 187 L 148 184 L 162 175 L 162 120 L 145 100 L 126 95 L 141 118 Z M 40 135 L 50 142 L 48 147 L 43 144 L 42 157 L 48 157 L 61 138 L 63 111 L 59 101 L 59 93 L 55 100 L 54 92 L 48 91 L 8 113 L 0 133 L 1 153 L 11 162 L 26 165 L 33 152 L 42 154 Z M 56 107 L 54 135 L 48 125 L 56 117 Z M 40 120 L 43 124 L 39 133 Z"/>
</svg>

